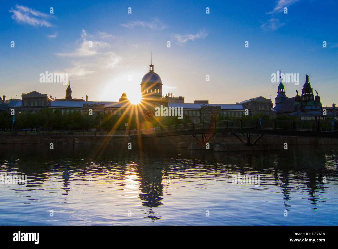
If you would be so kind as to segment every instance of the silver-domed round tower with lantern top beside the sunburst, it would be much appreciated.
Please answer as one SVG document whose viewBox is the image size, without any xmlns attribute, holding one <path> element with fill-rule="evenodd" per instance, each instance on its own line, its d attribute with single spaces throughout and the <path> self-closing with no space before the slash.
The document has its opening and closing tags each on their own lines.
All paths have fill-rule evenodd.
<svg viewBox="0 0 338 249">
<path fill-rule="evenodd" d="M 154 65 L 149 65 L 149 72 L 146 73 L 141 82 L 141 97 L 143 99 L 162 99 L 162 80 L 154 72 Z"/>
</svg>

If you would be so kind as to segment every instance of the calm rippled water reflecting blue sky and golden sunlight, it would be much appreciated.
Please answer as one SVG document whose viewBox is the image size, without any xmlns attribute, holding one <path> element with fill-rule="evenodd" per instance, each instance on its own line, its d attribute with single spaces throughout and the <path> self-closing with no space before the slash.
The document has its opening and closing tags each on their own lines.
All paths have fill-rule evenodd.
<svg viewBox="0 0 338 249">
<path fill-rule="evenodd" d="M 337 225 L 337 161 L 336 145 L 1 144 L 0 173 L 27 175 L 27 185 L 0 184 L 0 225 Z M 233 184 L 238 173 L 259 174 L 260 185 Z"/>
</svg>

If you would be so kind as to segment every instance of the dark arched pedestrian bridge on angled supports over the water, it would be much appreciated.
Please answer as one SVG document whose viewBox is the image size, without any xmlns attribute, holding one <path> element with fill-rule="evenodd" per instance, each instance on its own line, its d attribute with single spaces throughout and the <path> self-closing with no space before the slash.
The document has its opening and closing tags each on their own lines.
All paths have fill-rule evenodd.
<svg viewBox="0 0 338 249">
<path fill-rule="evenodd" d="M 264 135 L 281 136 L 301 136 L 301 137 L 326 137 L 338 138 L 337 120 L 222 120 L 207 121 L 198 123 L 187 123 L 175 126 L 166 126 L 161 128 L 151 128 L 143 130 L 129 131 L 132 139 L 152 138 L 166 136 L 192 135 L 199 142 L 208 142 L 217 133 L 232 133 L 236 137 L 237 133 L 247 134 L 246 145 L 252 145 Z M 205 141 L 205 135 L 211 134 L 208 141 Z M 250 142 L 250 134 L 261 134 L 261 136 Z M 199 140 L 196 135 L 201 135 Z"/>
</svg>

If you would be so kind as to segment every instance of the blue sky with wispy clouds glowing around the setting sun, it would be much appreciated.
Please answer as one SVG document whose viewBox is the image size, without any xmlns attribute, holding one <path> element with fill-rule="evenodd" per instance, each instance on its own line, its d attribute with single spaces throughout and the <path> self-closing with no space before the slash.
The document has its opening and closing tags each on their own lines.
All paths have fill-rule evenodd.
<svg viewBox="0 0 338 249">
<path fill-rule="evenodd" d="M 300 74 L 299 86 L 285 84 L 286 95 L 295 96 L 308 73 L 322 104 L 338 104 L 337 10 L 334 0 L 3 2 L 0 95 L 64 98 L 66 86 L 39 82 L 48 71 L 68 73 L 74 98 L 137 98 L 152 51 L 163 93 L 186 103 L 270 95 L 274 103 L 271 74 L 282 69 Z"/>
</svg>

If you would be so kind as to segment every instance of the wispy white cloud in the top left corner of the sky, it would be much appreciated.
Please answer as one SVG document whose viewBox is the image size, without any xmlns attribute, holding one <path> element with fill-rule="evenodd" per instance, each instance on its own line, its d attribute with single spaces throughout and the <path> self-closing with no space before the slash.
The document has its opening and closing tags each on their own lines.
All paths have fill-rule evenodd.
<svg viewBox="0 0 338 249">
<path fill-rule="evenodd" d="M 52 15 L 39 12 L 23 5 L 15 5 L 14 8 L 9 10 L 11 18 L 19 23 L 26 23 L 33 26 L 52 27 L 52 24 L 47 21 L 47 18 L 53 17 Z"/>
</svg>

